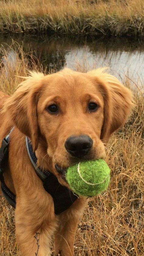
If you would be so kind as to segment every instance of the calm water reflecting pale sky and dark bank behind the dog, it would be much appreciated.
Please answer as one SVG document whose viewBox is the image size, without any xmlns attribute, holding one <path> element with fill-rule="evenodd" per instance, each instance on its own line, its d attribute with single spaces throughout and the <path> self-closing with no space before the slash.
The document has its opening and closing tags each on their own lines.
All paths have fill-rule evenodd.
<svg viewBox="0 0 144 256">
<path fill-rule="evenodd" d="M 47 68 L 63 67 L 82 70 L 108 66 L 111 73 L 122 79 L 125 75 L 132 79 L 144 80 L 144 42 L 128 38 L 92 38 L 38 35 L 0 35 L 0 44 L 9 51 L 9 60 L 14 66 L 15 53 L 8 50 L 15 40 L 23 50 L 33 51 Z M 6 65 L 6 63 L 5 63 Z"/>
</svg>

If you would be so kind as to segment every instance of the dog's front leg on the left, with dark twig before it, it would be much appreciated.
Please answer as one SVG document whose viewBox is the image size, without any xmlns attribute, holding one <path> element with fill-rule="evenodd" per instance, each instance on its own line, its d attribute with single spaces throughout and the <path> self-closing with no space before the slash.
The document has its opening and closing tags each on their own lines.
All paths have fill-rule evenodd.
<svg viewBox="0 0 144 256">
<path fill-rule="evenodd" d="M 44 210 L 37 205 L 33 209 L 33 205 L 17 198 L 15 227 L 20 252 L 22 256 L 50 256 L 50 237 L 56 228 L 56 218 L 49 207 Z"/>
</svg>

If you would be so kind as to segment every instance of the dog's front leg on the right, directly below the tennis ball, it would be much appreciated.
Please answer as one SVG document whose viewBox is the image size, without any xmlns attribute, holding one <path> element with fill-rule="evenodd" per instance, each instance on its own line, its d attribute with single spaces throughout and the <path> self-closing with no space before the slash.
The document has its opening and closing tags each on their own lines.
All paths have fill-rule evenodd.
<svg viewBox="0 0 144 256">
<path fill-rule="evenodd" d="M 54 235 L 56 256 L 73 256 L 74 239 L 79 218 L 88 204 L 85 198 L 77 199 L 74 204 L 59 216 L 59 226 Z"/>
</svg>

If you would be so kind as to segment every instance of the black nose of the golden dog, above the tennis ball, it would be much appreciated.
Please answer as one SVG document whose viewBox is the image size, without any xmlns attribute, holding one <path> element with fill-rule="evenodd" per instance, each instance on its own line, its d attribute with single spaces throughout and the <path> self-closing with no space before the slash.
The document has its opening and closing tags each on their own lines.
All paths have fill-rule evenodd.
<svg viewBox="0 0 144 256">
<path fill-rule="evenodd" d="M 87 155 L 93 145 L 92 139 L 87 135 L 69 137 L 65 142 L 67 152 L 72 156 L 82 158 Z"/>
</svg>

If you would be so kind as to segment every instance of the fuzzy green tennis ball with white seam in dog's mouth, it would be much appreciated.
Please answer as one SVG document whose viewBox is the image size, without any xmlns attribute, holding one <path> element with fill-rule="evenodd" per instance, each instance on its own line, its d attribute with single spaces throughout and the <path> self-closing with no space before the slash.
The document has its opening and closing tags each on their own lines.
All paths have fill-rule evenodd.
<svg viewBox="0 0 144 256">
<path fill-rule="evenodd" d="M 80 162 L 67 169 L 66 179 L 77 195 L 95 196 L 108 188 L 110 168 L 102 159 Z"/>
</svg>

